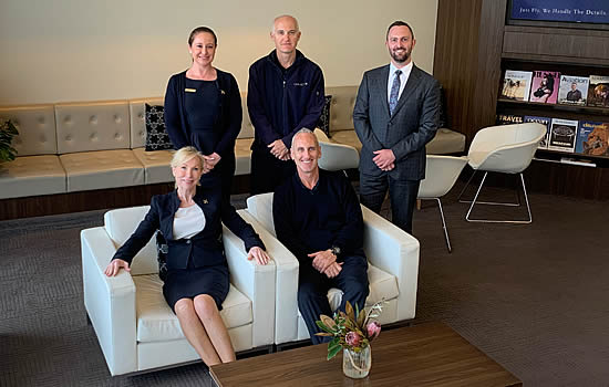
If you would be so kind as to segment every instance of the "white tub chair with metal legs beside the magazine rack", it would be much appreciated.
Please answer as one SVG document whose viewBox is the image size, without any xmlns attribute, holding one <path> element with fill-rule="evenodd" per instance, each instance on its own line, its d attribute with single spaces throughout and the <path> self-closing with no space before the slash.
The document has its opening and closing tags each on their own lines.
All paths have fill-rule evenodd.
<svg viewBox="0 0 609 387">
<path fill-rule="evenodd" d="M 465 216 L 467 221 L 493 223 L 530 223 L 533 221 L 523 171 L 529 166 L 539 140 L 541 140 L 545 135 L 546 127 L 536 123 L 491 126 L 476 133 L 467 154 L 468 164 L 474 169 L 474 175 L 478 170 L 482 170 L 485 174 L 472 201 L 461 200 L 461 197 L 469 185 L 469 181 L 472 181 L 474 175 L 472 175 L 467 181 L 467 185 L 465 185 L 461 191 L 460 200 L 462 202 L 471 202 L 467 215 Z M 478 201 L 482 187 L 484 186 L 484 181 L 486 180 L 488 172 L 520 175 L 520 182 L 523 185 L 523 192 L 527 206 L 527 219 L 492 220 L 473 219 L 471 217 L 475 205 L 520 206 L 519 196 L 518 201 L 515 203 Z"/>
</svg>

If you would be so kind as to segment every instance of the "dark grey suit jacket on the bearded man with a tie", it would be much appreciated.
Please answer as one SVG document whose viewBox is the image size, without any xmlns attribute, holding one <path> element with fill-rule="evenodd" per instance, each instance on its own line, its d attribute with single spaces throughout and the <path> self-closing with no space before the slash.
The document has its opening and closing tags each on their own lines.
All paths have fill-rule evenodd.
<svg viewBox="0 0 609 387">
<path fill-rule="evenodd" d="M 425 144 L 435 136 L 440 116 L 438 82 L 413 65 L 409 81 L 393 115 L 388 102 L 389 64 L 363 74 L 353 124 L 362 143 L 360 171 L 365 175 L 390 174 L 398 180 L 425 178 Z M 374 161 L 374 150 L 391 149 L 395 168 L 382 171 Z"/>
</svg>

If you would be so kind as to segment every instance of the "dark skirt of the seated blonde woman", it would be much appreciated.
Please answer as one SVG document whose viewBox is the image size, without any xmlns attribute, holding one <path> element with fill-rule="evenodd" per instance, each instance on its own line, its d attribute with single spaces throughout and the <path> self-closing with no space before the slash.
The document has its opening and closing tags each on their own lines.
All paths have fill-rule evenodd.
<svg viewBox="0 0 609 387">
<path fill-rule="evenodd" d="M 218 264 L 214 266 L 190 268 L 183 270 L 169 270 L 163 295 L 175 313 L 175 304 L 180 299 L 194 299 L 199 294 L 208 294 L 216 302 L 218 311 L 223 308 L 223 302 L 228 294 L 228 266 Z"/>
</svg>

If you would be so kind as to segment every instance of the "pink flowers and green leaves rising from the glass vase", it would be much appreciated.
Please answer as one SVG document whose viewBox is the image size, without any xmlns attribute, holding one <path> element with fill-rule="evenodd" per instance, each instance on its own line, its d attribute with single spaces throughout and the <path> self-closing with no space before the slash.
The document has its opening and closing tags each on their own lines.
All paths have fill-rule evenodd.
<svg viewBox="0 0 609 387">
<path fill-rule="evenodd" d="M 384 301 L 379 301 L 368 310 L 355 310 L 348 301 L 344 312 L 334 313 L 334 318 L 322 314 L 317 321 L 317 325 L 323 331 L 316 333 L 317 336 L 334 337 L 328 343 L 328 359 L 334 357 L 342 348 L 360 353 L 367 348 L 374 338 L 381 333 L 381 324 L 374 320 L 382 311 Z"/>
</svg>

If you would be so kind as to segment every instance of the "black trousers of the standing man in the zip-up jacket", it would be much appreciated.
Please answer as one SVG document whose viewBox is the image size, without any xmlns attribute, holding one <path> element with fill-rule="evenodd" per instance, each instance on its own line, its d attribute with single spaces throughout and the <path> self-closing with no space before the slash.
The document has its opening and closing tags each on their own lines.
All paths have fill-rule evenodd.
<svg viewBox="0 0 609 387">
<path fill-rule="evenodd" d="M 272 192 L 293 174 L 296 174 L 296 165 L 292 160 L 281 161 L 268 149 L 251 150 L 251 195 Z"/>
</svg>

